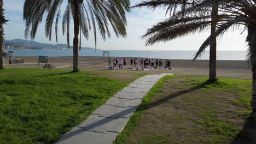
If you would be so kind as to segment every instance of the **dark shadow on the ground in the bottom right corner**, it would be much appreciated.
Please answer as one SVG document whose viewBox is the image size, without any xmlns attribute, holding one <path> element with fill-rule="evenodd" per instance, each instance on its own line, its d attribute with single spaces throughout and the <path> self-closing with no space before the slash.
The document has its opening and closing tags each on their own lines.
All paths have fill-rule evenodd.
<svg viewBox="0 0 256 144">
<path fill-rule="evenodd" d="M 243 129 L 236 135 L 230 144 L 255 144 L 256 143 L 256 124 L 252 116 L 246 119 Z"/>
</svg>

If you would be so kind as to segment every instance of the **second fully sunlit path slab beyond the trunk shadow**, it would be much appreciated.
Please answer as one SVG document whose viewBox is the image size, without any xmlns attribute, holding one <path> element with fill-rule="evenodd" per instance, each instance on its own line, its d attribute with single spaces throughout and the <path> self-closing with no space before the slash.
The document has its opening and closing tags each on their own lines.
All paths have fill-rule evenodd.
<svg viewBox="0 0 256 144">
<path fill-rule="evenodd" d="M 118 92 L 113 97 L 120 99 L 143 99 L 145 93 L 127 93 L 127 92 Z"/>
</svg>

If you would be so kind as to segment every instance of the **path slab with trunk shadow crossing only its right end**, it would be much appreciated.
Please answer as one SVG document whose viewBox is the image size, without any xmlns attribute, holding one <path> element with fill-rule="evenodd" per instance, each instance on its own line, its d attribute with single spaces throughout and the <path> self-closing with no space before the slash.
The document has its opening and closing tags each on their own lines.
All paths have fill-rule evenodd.
<svg viewBox="0 0 256 144">
<path fill-rule="evenodd" d="M 102 105 L 96 111 L 93 112 L 95 115 L 109 118 L 130 118 L 133 112 L 136 111 L 136 107 L 114 107 L 109 105 Z"/>
</svg>

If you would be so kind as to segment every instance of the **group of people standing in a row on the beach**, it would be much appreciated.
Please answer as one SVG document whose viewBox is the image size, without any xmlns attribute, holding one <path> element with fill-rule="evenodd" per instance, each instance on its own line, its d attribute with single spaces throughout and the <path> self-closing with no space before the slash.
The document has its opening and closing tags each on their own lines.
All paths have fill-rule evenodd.
<svg viewBox="0 0 256 144">
<path fill-rule="evenodd" d="M 113 62 L 113 67 L 112 67 L 112 62 Z M 150 59 L 150 58 L 142 58 L 140 60 L 141 62 L 141 68 L 152 68 L 152 69 L 157 69 L 157 68 L 162 68 L 162 60 L 161 59 Z M 155 64 L 155 65 L 154 65 Z M 138 59 L 137 58 L 131 58 L 130 60 L 130 66 L 138 68 Z M 155 67 L 154 67 L 155 66 Z M 126 68 L 126 59 L 118 59 L 117 57 L 114 58 L 112 61 L 111 58 L 109 57 L 108 59 L 108 67 L 112 69 L 123 69 Z M 166 66 L 165 68 L 171 69 L 171 62 L 170 60 L 166 59 Z"/>
</svg>

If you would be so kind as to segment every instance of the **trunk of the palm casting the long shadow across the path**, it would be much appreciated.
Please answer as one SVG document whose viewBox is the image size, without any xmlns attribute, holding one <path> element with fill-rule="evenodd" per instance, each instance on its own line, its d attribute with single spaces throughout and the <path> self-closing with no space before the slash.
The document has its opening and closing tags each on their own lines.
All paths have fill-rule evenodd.
<svg viewBox="0 0 256 144">
<path fill-rule="evenodd" d="M 209 79 L 216 80 L 216 25 L 218 15 L 219 0 L 214 1 L 212 7 L 212 23 L 211 23 L 211 35 L 213 36 L 210 43 L 210 63 L 209 63 Z"/>
</svg>

